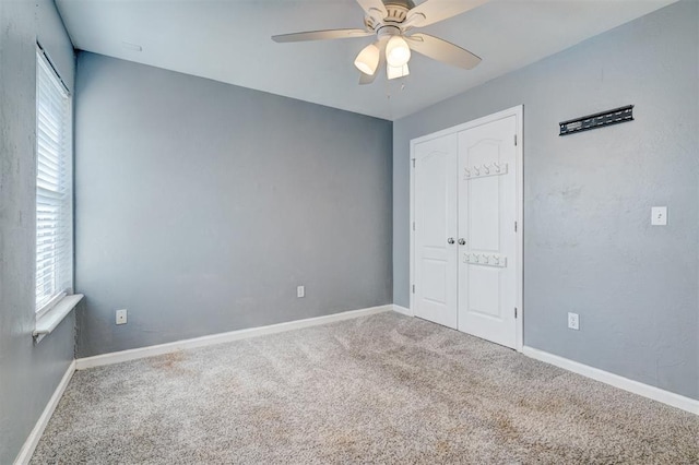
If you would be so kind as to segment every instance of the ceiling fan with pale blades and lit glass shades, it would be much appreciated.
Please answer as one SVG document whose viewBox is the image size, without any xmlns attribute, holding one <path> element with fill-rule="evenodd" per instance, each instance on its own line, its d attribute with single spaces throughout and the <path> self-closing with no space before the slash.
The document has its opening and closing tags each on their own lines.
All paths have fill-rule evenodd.
<svg viewBox="0 0 699 465">
<path fill-rule="evenodd" d="M 308 31 L 272 36 L 272 40 L 292 43 L 376 35 L 376 41 L 359 51 L 354 60 L 354 65 L 360 72 L 359 84 L 372 83 L 377 70 L 384 64 L 389 80 L 407 75 L 411 50 L 471 70 L 481 62 L 481 58 L 447 40 L 428 34 L 412 33 L 412 29 L 464 13 L 487 1 L 426 0 L 416 7 L 413 0 L 357 0 L 366 13 L 364 29 Z"/>
</svg>

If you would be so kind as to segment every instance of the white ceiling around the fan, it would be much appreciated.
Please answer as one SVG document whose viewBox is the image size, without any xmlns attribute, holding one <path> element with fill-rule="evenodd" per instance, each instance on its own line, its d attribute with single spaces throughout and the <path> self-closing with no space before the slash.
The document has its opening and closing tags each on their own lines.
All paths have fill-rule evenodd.
<svg viewBox="0 0 699 465">
<path fill-rule="evenodd" d="M 460 0 L 453 0 L 460 1 Z M 363 27 L 355 0 L 57 0 L 82 50 L 394 120 L 676 0 L 491 0 L 422 31 L 483 58 L 465 71 L 413 53 L 411 75 L 359 86 L 371 37 L 276 44 L 270 36 Z M 416 3 L 420 3 L 416 1 Z M 142 51 L 123 43 L 135 44 Z"/>
</svg>

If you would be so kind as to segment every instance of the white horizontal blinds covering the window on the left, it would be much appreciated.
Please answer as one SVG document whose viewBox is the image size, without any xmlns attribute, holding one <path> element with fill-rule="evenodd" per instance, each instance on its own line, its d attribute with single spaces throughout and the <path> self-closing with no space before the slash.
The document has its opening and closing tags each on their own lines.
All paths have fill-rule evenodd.
<svg viewBox="0 0 699 465">
<path fill-rule="evenodd" d="M 72 293 L 72 118 L 62 82 L 36 59 L 36 311 Z"/>
</svg>

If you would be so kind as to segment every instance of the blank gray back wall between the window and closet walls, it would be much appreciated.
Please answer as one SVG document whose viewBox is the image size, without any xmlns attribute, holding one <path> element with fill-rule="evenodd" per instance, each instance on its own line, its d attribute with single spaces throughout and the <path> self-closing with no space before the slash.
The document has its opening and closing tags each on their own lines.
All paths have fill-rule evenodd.
<svg viewBox="0 0 699 465">
<path fill-rule="evenodd" d="M 391 302 L 391 122 L 83 52 L 76 86 L 79 356 Z"/>
</svg>

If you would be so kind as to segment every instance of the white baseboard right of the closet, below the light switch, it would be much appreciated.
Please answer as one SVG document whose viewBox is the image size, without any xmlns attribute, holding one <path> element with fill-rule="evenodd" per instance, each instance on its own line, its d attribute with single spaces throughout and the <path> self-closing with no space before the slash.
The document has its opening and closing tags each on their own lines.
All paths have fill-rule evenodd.
<svg viewBox="0 0 699 465">
<path fill-rule="evenodd" d="M 632 392 L 633 394 L 642 395 L 643 397 L 652 398 L 653 401 L 662 402 L 663 404 L 699 415 L 699 401 L 697 400 L 685 397 L 684 395 L 675 394 L 674 392 L 665 391 L 649 384 L 643 384 L 639 381 L 629 380 L 628 378 L 609 373 L 608 371 L 600 370 L 599 368 L 572 361 L 533 347 L 524 346 L 522 354 L 528 357 L 555 365 L 556 367 L 565 370 L 572 371 L 573 373 L 582 374 L 583 377 L 611 384 L 615 388 Z"/>
</svg>

